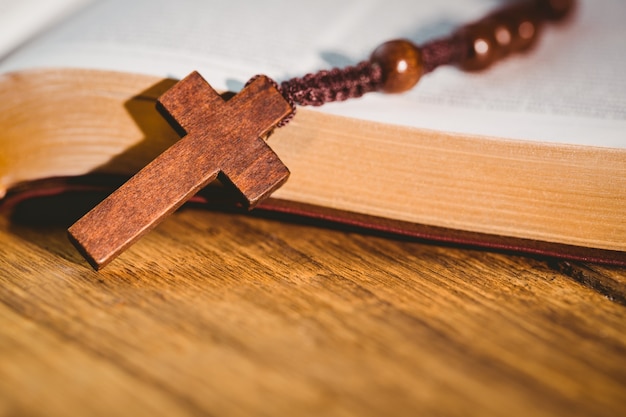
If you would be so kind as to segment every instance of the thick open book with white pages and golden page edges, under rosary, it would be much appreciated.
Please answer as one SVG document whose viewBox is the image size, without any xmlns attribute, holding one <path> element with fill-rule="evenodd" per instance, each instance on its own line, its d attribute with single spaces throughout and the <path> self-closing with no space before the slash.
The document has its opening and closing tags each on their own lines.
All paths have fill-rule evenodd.
<svg viewBox="0 0 626 417">
<path fill-rule="evenodd" d="M 87 2 L 0 60 L 0 192 L 137 171 L 177 140 L 154 100 L 193 70 L 223 90 L 282 81 L 444 36 L 501 2 L 427 3 Z M 583 0 L 485 72 L 440 68 L 406 94 L 300 109 L 269 139 L 292 174 L 263 207 L 626 264 L 625 12 Z"/>
</svg>

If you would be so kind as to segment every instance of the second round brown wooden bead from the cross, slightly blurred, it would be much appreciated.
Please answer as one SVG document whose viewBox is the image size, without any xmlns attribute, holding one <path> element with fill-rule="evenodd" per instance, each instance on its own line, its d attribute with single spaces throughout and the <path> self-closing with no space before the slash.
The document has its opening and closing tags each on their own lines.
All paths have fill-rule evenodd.
<svg viewBox="0 0 626 417">
<path fill-rule="evenodd" d="M 493 20 L 463 27 L 459 36 L 466 39 L 468 49 L 459 66 L 466 71 L 478 71 L 491 65 L 500 55 L 495 33 L 496 23 Z"/>
</svg>

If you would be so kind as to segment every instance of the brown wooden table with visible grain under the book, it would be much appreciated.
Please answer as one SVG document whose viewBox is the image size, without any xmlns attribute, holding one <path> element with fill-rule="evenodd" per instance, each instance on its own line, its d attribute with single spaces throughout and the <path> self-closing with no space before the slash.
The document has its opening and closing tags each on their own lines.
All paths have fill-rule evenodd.
<svg viewBox="0 0 626 417">
<path fill-rule="evenodd" d="M 626 415 L 624 269 L 189 207 L 95 272 L 57 215 L 0 217 L 2 416 Z"/>
</svg>

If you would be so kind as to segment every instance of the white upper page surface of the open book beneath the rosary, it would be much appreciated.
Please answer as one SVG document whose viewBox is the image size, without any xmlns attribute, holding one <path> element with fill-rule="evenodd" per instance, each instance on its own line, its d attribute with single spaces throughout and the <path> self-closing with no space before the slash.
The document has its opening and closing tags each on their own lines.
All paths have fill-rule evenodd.
<svg viewBox="0 0 626 417">
<path fill-rule="evenodd" d="M 367 59 L 380 43 L 445 36 L 496 0 L 181 2 L 101 0 L 0 61 L 0 72 L 83 67 L 182 78 L 218 89 Z M 320 111 L 447 132 L 626 148 L 626 2 L 580 0 L 530 52 L 480 73 L 440 68 L 410 92 Z"/>
</svg>

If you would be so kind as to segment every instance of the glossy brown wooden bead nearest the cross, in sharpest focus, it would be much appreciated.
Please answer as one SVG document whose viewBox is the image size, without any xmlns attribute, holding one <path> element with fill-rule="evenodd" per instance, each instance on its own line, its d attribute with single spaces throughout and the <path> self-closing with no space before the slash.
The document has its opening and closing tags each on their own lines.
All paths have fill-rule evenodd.
<svg viewBox="0 0 626 417">
<path fill-rule="evenodd" d="M 398 39 L 377 47 L 370 61 L 382 70 L 385 93 L 401 93 L 413 88 L 423 73 L 420 50 L 412 42 Z"/>
</svg>

